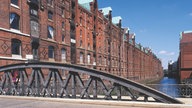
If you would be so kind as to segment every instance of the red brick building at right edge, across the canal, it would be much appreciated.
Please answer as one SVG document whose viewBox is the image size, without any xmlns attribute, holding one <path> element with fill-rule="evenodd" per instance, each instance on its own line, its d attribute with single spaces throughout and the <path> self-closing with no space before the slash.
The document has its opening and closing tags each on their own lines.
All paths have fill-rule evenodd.
<svg viewBox="0 0 192 108">
<path fill-rule="evenodd" d="M 191 71 L 184 71 L 182 69 L 192 68 L 192 31 L 184 31 L 180 34 L 180 79 L 188 79 L 192 77 Z"/>
</svg>

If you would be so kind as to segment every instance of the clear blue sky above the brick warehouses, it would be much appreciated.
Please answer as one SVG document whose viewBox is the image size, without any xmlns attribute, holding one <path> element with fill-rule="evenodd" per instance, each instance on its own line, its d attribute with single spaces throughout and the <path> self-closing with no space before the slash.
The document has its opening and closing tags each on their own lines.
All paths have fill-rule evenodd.
<svg viewBox="0 0 192 108">
<path fill-rule="evenodd" d="M 98 0 L 122 17 L 122 26 L 136 34 L 136 42 L 150 47 L 162 61 L 177 61 L 180 32 L 192 30 L 192 0 Z"/>
</svg>

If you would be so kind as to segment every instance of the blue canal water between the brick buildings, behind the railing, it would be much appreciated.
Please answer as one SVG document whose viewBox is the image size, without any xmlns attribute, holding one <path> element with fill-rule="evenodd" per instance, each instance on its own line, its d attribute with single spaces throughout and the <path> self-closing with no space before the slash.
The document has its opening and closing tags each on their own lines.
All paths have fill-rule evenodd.
<svg viewBox="0 0 192 108">
<path fill-rule="evenodd" d="M 157 84 L 149 84 L 150 87 L 172 97 L 179 97 L 179 81 L 175 78 L 163 77 Z"/>
</svg>

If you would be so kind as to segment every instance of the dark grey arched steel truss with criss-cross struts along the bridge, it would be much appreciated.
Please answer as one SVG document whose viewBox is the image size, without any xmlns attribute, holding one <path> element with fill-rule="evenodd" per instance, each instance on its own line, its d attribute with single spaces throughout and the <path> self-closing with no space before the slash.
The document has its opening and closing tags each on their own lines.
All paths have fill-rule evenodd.
<svg viewBox="0 0 192 108">
<path fill-rule="evenodd" d="M 0 95 L 182 102 L 145 85 L 72 64 L 28 62 L 0 67 Z M 127 97 L 127 98 L 123 98 Z"/>
</svg>

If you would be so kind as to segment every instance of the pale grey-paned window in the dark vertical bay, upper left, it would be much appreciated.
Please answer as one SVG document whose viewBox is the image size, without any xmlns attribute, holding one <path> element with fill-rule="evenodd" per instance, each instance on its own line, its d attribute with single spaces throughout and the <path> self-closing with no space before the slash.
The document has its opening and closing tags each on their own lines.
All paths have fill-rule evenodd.
<svg viewBox="0 0 192 108">
<path fill-rule="evenodd" d="M 39 23 L 31 20 L 31 36 L 39 38 Z"/>
</svg>

